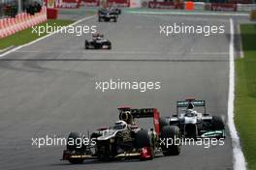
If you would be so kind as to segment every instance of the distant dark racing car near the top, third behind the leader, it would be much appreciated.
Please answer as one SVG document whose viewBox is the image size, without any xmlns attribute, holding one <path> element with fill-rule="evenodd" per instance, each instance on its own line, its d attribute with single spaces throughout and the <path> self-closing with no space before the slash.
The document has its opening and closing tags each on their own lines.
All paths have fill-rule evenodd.
<svg viewBox="0 0 256 170">
<path fill-rule="evenodd" d="M 115 10 L 111 10 L 108 8 L 102 8 L 98 11 L 98 21 L 117 21 L 118 14 L 116 14 Z"/>
</svg>

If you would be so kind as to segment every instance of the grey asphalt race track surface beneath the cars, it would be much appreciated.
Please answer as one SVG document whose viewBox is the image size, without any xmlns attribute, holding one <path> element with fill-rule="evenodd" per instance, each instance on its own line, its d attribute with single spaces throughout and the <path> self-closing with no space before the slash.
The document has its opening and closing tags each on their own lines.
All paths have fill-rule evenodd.
<svg viewBox="0 0 256 170">
<path fill-rule="evenodd" d="M 203 37 L 159 34 L 160 24 L 225 26 L 225 34 Z M 228 18 L 122 14 L 117 23 L 97 25 L 112 41 L 112 50 L 83 49 L 91 35 L 56 34 L 18 49 L 0 61 L 0 169 L 3 170 L 231 170 L 229 132 L 224 146 L 183 146 L 180 156 L 153 160 L 71 165 L 59 159 L 64 146 L 32 146 L 32 137 L 66 137 L 70 131 L 93 130 L 118 119 L 119 105 L 156 107 L 161 115 L 176 110 L 175 101 L 206 99 L 208 112 L 227 120 Z M 96 81 L 160 81 L 161 89 L 141 93 L 95 89 Z M 142 121 L 142 127 L 148 127 Z M 151 122 L 150 122 L 151 123 Z"/>
</svg>

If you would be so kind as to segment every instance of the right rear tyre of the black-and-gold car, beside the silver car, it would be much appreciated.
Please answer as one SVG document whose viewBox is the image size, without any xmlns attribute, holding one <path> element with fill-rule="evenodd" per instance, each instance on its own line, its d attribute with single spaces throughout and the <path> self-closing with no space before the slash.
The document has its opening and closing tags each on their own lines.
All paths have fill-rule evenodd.
<svg viewBox="0 0 256 170">
<path fill-rule="evenodd" d="M 175 143 L 178 139 L 179 143 Z M 176 126 L 165 126 L 161 130 L 161 148 L 164 156 L 178 156 L 180 154 L 181 134 Z"/>
</svg>

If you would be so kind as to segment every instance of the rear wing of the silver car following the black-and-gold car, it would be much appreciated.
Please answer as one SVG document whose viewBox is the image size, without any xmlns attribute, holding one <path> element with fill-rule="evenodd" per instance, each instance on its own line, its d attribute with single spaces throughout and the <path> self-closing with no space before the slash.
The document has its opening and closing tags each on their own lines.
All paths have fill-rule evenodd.
<svg viewBox="0 0 256 170">
<path fill-rule="evenodd" d="M 207 112 L 206 108 L 206 100 L 196 100 L 196 99 L 186 99 L 182 101 L 176 101 L 176 113 L 178 112 L 178 108 L 180 107 L 204 107 L 205 108 L 205 114 Z"/>
</svg>

